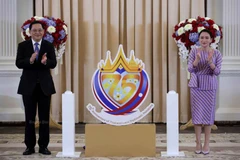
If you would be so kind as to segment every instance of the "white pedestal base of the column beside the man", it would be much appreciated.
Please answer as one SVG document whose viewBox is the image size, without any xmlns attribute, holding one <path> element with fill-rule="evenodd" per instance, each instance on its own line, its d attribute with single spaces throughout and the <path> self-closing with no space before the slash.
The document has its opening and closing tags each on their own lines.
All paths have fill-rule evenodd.
<svg viewBox="0 0 240 160">
<path fill-rule="evenodd" d="M 1 53 L 0 53 L 1 54 Z M 6 63 L 6 64 L 5 64 Z M 11 67 L 12 66 L 12 67 Z M 14 66 L 14 60 L 0 58 L 0 121 L 25 121 L 22 96 L 17 94 L 21 70 Z"/>
</svg>

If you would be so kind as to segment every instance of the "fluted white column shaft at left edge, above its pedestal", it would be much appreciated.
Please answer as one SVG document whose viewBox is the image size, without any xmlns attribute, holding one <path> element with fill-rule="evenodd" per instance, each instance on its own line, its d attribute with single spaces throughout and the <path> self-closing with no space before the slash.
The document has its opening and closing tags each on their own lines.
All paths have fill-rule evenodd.
<svg viewBox="0 0 240 160">
<path fill-rule="evenodd" d="M 16 69 L 17 0 L 0 1 L 0 72 Z"/>
</svg>

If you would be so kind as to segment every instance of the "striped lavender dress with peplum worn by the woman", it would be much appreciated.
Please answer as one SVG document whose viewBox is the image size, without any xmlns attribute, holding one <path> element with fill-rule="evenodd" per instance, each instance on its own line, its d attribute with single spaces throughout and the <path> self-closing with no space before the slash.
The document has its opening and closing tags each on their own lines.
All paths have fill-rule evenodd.
<svg viewBox="0 0 240 160">
<path fill-rule="evenodd" d="M 197 48 L 193 48 L 188 58 L 188 71 L 191 79 L 188 86 L 191 94 L 191 113 L 193 124 L 212 125 L 215 119 L 216 90 L 218 87 L 217 76 L 220 74 L 222 55 L 214 50 L 212 70 L 207 63 L 208 53 L 201 51 L 201 60 L 197 67 L 193 67 Z"/>
</svg>

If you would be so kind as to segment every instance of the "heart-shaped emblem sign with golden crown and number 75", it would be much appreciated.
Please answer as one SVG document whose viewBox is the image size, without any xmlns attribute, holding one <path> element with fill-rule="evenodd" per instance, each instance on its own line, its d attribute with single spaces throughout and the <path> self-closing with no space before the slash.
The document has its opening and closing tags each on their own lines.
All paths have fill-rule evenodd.
<svg viewBox="0 0 240 160">
<path fill-rule="evenodd" d="M 92 92 L 102 107 L 101 112 L 88 104 L 91 114 L 103 123 L 121 126 L 135 123 L 146 116 L 154 107 L 151 103 L 142 111 L 138 108 L 149 91 L 149 77 L 144 63 L 135 58 L 131 51 L 126 58 L 122 45 L 112 61 L 111 53 L 98 63 L 98 69 L 92 77 Z"/>
</svg>

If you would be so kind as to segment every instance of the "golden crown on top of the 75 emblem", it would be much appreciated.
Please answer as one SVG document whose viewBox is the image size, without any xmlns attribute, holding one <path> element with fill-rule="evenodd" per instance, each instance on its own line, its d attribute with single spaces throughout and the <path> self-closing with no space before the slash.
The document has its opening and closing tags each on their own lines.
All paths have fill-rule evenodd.
<svg viewBox="0 0 240 160">
<path fill-rule="evenodd" d="M 144 63 L 135 58 L 134 51 L 130 52 L 130 58 L 126 58 L 122 45 L 119 45 L 118 53 L 112 61 L 110 51 L 107 52 L 107 57 L 98 63 L 100 72 L 114 72 L 118 68 L 124 68 L 127 72 L 141 72 L 144 69 Z"/>
</svg>

